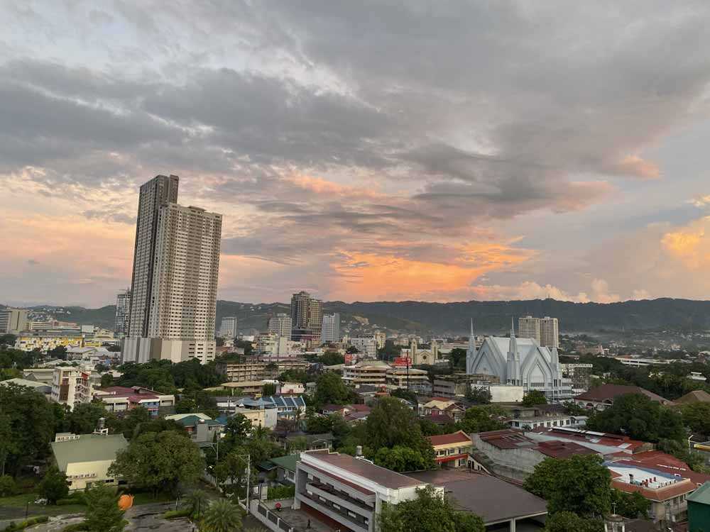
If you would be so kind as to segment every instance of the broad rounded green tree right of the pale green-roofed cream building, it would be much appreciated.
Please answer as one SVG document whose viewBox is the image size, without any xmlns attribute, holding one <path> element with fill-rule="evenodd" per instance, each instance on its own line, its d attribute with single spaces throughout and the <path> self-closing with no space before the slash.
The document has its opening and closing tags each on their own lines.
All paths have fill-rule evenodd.
<svg viewBox="0 0 710 532">
<path fill-rule="evenodd" d="M 178 482 L 194 484 L 204 472 L 200 448 L 175 431 L 146 432 L 119 451 L 109 475 L 121 475 L 135 486 L 174 494 Z"/>
</svg>

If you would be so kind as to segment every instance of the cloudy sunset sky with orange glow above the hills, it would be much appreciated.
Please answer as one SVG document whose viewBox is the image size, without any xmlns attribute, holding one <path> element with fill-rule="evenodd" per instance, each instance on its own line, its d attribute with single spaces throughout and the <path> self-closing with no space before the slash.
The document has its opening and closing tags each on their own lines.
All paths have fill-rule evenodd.
<svg viewBox="0 0 710 532">
<path fill-rule="evenodd" d="M 138 187 L 219 298 L 710 299 L 710 3 L 0 0 L 0 302 L 129 286 Z"/>
</svg>

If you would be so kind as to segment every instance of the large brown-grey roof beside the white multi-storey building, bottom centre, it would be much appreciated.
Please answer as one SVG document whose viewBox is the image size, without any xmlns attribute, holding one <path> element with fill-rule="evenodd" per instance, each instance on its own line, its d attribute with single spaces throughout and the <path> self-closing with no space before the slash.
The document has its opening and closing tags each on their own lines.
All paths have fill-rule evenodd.
<svg viewBox="0 0 710 532">
<path fill-rule="evenodd" d="M 443 486 L 459 509 L 478 514 L 486 524 L 547 513 L 544 499 L 489 475 L 442 469 L 408 473 L 408 476 Z"/>
</svg>

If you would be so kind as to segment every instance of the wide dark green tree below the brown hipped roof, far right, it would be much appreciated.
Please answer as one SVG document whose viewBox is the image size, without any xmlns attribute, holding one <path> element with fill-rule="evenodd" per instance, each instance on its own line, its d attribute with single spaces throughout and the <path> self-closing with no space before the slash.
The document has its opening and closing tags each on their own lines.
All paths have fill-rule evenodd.
<svg viewBox="0 0 710 532">
<path fill-rule="evenodd" d="M 681 440 L 685 434 L 680 414 L 643 394 L 617 397 L 611 406 L 590 416 L 586 426 L 592 431 L 627 434 L 653 443 Z"/>
</svg>

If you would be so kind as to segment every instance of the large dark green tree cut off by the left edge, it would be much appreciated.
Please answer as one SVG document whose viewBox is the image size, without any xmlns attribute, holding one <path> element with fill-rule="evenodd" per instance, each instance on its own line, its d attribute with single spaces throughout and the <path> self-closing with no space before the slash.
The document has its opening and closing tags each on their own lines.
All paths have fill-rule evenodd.
<svg viewBox="0 0 710 532">
<path fill-rule="evenodd" d="M 0 460 L 16 475 L 29 460 L 48 453 L 55 433 L 54 407 L 33 389 L 0 386 Z"/>
</svg>

